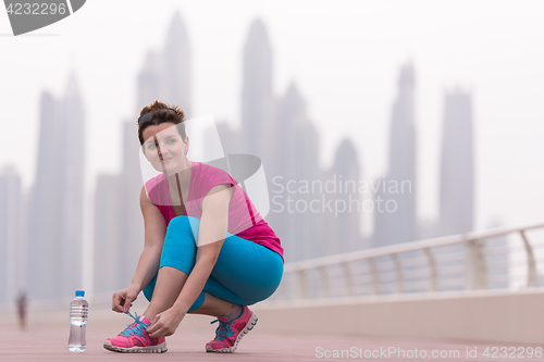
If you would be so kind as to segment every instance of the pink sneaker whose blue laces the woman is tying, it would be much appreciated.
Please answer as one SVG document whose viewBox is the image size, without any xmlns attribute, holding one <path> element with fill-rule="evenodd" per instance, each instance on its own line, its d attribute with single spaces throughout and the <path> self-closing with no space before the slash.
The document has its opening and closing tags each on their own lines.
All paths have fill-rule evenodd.
<svg viewBox="0 0 544 362">
<path fill-rule="evenodd" d="M 122 353 L 164 353 L 166 351 L 165 338 L 151 338 L 147 334 L 147 327 L 151 324 L 144 315 L 132 316 L 135 322 L 129 324 L 125 330 L 115 338 L 108 338 L 103 342 L 103 348 Z"/>
</svg>

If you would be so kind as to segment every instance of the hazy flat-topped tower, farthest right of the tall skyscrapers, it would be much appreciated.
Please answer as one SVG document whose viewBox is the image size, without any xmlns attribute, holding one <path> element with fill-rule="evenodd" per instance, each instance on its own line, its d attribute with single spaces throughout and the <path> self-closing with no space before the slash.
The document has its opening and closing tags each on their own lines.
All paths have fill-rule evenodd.
<svg viewBox="0 0 544 362">
<path fill-rule="evenodd" d="M 442 235 L 473 230 L 474 145 L 472 100 L 460 89 L 446 91 L 442 132 L 440 229 Z"/>
</svg>

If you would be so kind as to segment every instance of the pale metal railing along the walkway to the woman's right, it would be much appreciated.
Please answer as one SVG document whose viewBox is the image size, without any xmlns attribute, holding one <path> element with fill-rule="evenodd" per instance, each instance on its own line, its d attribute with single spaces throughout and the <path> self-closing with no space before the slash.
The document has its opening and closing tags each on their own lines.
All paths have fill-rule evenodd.
<svg viewBox="0 0 544 362">
<path fill-rule="evenodd" d="M 540 261 L 536 257 L 544 247 L 544 237 L 531 244 L 527 234 L 533 230 L 544 232 L 544 224 L 286 263 L 282 284 L 270 302 L 536 287 Z"/>
</svg>

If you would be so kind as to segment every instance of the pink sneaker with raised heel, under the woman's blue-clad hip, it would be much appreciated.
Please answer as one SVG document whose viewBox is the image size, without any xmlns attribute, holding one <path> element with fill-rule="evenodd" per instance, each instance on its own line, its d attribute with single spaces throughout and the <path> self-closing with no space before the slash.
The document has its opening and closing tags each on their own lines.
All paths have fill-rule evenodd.
<svg viewBox="0 0 544 362">
<path fill-rule="evenodd" d="M 238 342 L 257 324 L 257 315 L 246 305 L 242 309 L 242 314 L 230 321 L 227 316 L 222 315 L 211 323 L 219 321 L 219 327 L 215 329 L 215 339 L 206 344 L 207 352 L 232 353 L 238 347 Z"/>
</svg>

